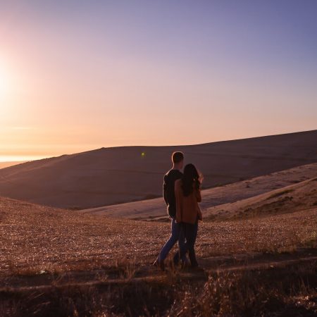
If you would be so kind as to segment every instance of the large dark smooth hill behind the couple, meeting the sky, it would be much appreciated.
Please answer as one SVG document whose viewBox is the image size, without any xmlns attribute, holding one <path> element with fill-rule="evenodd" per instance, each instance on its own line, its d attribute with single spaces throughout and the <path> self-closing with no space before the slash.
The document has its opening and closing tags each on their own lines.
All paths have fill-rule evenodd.
<svg viewBox="0 0 317 317">
<path fill-rule="evenodd" d="M 0 195 L 73 209 L 119 204 L 161 196 L 175 150 L 204 173 L 206 188 L 315 163 L 316 145 L 313 130 L 197 145 L 101 148 L 0 169 Z"/>
</svg>

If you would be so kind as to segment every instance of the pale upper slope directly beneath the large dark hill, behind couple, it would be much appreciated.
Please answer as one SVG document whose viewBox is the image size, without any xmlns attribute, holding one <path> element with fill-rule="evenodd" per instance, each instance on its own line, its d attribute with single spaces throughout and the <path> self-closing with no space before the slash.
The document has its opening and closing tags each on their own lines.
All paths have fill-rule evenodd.
<svg viewBox="0 0 317 317">
<path fill-rule="evenodd" d="M 271 194 L 273 194 L 275 191 L 280 192 L 284 187 L 297 183 L 302 184 L 306 180 L 316 177 L 317 163 L 313 163 L 221 187 L 205 189 L 202 192 L 203 201 L 201 202 L 201 209 L 203 213 L 205 213 L 205 211 L 210 211 L 211 207 L 217 206 L 215 210 L 218 212 L 218 206 L 220 205 L 228 204 L 228 206 L 234 206 L 235 204 L 232 203 L 236 201 L 253 199 L 253 197 L 257 197 L 263 193 L 271 192 Z M 166 217 L 166 206 L 163 199 L 159 198 L 94 209 L 84 209 L 80 211 L 80 213 L 138 220 L 153 220 Z"/>
</svg>

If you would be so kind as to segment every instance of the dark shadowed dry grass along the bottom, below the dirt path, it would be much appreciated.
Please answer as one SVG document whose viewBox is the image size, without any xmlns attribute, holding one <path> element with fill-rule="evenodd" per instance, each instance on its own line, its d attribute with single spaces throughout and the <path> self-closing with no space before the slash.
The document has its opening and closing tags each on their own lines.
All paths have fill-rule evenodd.
<svg viewBox="0 0 317 317">
<path fill-rule="evenodd" d="M 2 290 L 1 316 L 314 316 L 316 261 L 123 283 Z"/>
</svg>

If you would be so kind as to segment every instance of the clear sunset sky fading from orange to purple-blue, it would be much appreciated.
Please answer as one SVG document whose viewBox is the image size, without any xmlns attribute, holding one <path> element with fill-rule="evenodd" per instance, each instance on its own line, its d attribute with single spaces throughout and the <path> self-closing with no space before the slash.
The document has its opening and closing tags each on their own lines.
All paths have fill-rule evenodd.
<svg viewBox="0 0 317 317">
<path fill-rule="evenodd" d="M 0 161 L 317 128 L 317 1 L 0 0 Z"/>
</svg>

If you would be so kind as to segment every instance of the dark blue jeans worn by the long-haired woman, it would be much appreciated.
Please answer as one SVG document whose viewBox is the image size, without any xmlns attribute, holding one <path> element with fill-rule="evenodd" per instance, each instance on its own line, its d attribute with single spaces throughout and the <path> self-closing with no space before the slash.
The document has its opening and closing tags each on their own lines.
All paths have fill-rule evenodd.
<svg viewBox="0 0 317 317">
<path fill-rule="evenodd" d="M 181 223 L 180 228 L 180 240 L 185 240 L 185 244 L 180 246 L 180 259 L 184 259 L 188 251 L 189 260 L 193 267 L 198 266 L 194 245 L 197 238 L 198 232 L 198 221 L 192 223 Z"/>
</svg>

